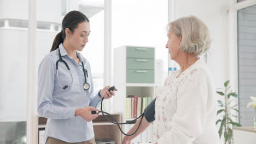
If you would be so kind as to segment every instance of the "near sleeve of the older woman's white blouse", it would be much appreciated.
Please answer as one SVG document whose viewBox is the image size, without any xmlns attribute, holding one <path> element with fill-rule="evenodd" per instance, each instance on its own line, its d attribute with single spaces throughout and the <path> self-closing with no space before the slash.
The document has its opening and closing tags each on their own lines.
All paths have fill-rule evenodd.
<svg viewBox="0 0 256 144">
<path fill-rule="evenodd" d="M 198 71 L 197 71 L 198 72 Z M 206 121 L 207 81 L 203 74 L 195 73 L 177 91 L 177 112 L 158 140 L 162 143 L 187 144 L 202 134 Z"/>
</svg>

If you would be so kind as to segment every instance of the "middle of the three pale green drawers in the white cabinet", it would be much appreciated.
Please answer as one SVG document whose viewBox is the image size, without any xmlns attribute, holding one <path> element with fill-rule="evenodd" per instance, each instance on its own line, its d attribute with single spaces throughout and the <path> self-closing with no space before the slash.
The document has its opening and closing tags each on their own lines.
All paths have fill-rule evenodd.
<svg viewBox="0 0 256 144">
<path fill-rule="evenodd" d="M 154 69 L 154 59 L 127 58 L 126 69 Z"/>
</svg>

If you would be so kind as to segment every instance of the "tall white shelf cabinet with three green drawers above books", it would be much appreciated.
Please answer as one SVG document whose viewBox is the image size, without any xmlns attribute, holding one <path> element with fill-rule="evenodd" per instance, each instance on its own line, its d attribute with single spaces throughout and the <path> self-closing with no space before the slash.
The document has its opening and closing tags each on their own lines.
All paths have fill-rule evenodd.
<svg viewBox="0 0 256 144">
<path fill-rule="evenodd" d="M 120 112 L 122 114 L 122 122 L 131 121 L 135 116 L 129 117 L 130 112 L 126 110 L 128 110 L 131 105 L 127 104 L 126 98 L 129 98 L 130 95 L 136 95 L 142 99 L 149 98 L 150 100 L 155 98 L 154 47 L 122 46 L 114 49 L 113 70 L 113 83 L 114 86 L 118 88 L 118 92 L 113 99 L 114 112 Z M 149 103 L 150 101 L 148 101 L 148 104 Z M 141 110 L 141 112 L 143 112 L 143 110 Z M 132 124 L 123 126 L 125 133 L 130 130 L 131 126 Z M 144 131 L 141 135 L 140 140 L 132 142 L 152 142 L 153 127 L 149 127 L 147 131 Z M 124 135 L 122 136 L 124 137 Z"/>
</svg>

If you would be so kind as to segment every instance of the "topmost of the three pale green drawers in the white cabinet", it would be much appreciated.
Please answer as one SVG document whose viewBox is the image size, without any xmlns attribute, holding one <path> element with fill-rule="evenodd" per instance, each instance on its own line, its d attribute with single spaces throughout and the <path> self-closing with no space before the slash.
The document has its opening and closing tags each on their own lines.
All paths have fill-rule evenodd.
<svg viewBox="0 0 256 144">
<path fill-rule="evenodd" d="M 126 47 L 127 58 L 154 58 L 154 48 L 149 47 Z"/>
</svg>

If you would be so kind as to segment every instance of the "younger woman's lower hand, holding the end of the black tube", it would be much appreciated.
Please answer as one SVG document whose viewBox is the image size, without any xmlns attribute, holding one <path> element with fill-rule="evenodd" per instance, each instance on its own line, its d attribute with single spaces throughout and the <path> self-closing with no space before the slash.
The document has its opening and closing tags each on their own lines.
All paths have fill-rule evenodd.
<svg viewBox="0 0 256 144">
<path fill-rule="evenodd" d="M 98 114 L 91 114 L 91 111 L 100 111 L 95 107 L 85 106 L 84 108 L 75 109 L 75 116 L 84 118 L 86 122 L 91 122 L 93 119 L 98 117 Z"/>
</svg>

